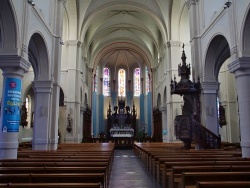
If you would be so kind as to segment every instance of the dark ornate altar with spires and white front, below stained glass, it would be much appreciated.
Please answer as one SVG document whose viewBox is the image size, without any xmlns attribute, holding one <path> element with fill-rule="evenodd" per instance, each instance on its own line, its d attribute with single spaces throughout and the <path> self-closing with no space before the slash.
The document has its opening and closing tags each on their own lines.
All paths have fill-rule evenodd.
<svg viewBox="0 0 250 188">
<path fill-rule="evenodd" d="M 136 134 L 136 110 L 133 104 L 132 111 L 125 105 L 124 99 L 118 99 L 118 106 L 114 107 L 112 113 L 111 106 L 107 110 L 108 137 L 112 138 L 132 138 Z"/>
</svg>

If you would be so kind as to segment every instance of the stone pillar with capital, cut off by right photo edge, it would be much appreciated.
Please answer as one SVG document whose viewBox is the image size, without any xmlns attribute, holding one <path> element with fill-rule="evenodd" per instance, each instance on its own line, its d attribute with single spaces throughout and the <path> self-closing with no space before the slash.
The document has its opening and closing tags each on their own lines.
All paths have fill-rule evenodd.
<svg viewBox="0 0 250 188">
<path fill-rule="evenodd" d="M 242 157 L 250 158 L 250 58 L 238 58 L 228 68 L 236 78 Z"/>
</svg>

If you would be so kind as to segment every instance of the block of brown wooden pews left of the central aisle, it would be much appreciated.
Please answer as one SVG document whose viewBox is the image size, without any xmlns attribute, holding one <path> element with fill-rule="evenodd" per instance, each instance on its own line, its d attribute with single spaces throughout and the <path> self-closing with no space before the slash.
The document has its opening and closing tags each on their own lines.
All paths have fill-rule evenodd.
<svg viewBox="0 0 250 188">
<path fill-rule="evenodd" d="M 55 151 L 20 150 L 0 159 L 0 187 L 108 188 L 112 143 L 60 144 Z"/>
</svg>

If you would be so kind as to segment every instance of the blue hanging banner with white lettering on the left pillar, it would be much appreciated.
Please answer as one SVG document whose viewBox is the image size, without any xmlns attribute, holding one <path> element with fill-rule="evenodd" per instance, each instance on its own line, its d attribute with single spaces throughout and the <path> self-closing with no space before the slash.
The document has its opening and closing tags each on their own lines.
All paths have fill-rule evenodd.
<svg viewBox="0 0 250 188">
<path fill-rule="evenodd" d="M 3 132 L 18 132 L 20 124 L 21 79 L 6 78 L 3 101 Z"/>
</svg>

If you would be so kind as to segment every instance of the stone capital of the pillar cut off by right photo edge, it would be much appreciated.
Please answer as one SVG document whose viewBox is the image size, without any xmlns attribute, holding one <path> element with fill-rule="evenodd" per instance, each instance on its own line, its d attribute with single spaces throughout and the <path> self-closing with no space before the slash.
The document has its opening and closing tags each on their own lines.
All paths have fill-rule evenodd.
<svg viewBox="0 0 250 188">
<path fill-rule="evenodd" d="M 242 75 L 250 73 L 250 57 L 239 57 L 228 66 L 231 73 Z"/>
</svg>

